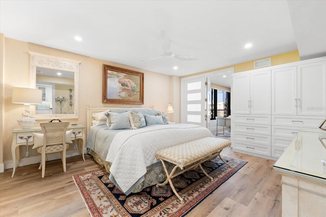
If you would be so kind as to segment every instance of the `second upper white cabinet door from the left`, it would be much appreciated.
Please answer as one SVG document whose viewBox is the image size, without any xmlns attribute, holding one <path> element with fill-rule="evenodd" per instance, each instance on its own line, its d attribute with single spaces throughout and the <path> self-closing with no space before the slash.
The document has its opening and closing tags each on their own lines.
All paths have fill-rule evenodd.
<svg viewBox="0 0 326 217">
<path fill-rule="evenodd" d="M 270 71 L 250 74 L 251 114 L 270 114 Z"/>
</svg>

